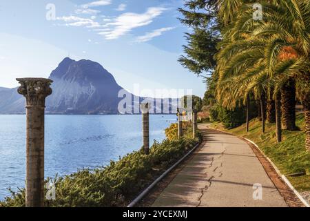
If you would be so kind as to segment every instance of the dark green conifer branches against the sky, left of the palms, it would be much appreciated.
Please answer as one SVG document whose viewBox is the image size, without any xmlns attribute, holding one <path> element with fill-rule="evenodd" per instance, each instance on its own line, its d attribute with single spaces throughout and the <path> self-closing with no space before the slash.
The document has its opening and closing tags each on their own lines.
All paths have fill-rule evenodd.
<svg viewBox="0 0 310 221">
<path fill-rule="evenodd" d="M 185 8 L 178 8 L 183 15 L 181 23 L 193 30 L 192 33 L 185 33 L 185 55 L 178 61 L 197 75 L 213 70 L 216 66 L 214 55 L 217 52 L 216 44 L 220 41 L 216 3 L 216 0 L 186 0 Z"/>
</svg>

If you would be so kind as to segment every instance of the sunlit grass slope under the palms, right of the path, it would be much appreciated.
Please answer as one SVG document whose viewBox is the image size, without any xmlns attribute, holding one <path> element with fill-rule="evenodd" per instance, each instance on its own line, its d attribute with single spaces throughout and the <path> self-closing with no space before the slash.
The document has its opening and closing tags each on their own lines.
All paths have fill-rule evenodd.
<svg viewBox="0 0 310 221">
<path fill-rule="evenodd" d="M 276 124 L 266 124 L 265 133 L 261 132 L 261 122 L 252 119 L 249 133 L 245 132 L 245 124 L 234 129 L 225 129 L 221 123 L 211 124 L 211 128 L 246 137 L 255 142 L 267 155 L 281 173 L 286 175 L 298 191 L 310 191 L 310 153 L 305 145 L 304 115 L 296 116 L 296 125 L 300 131 L 282 131 L 282 142 L 276 142 Z M 305 175 L 293 177 L 292 173 L 304 172 Z"/>
</svg>

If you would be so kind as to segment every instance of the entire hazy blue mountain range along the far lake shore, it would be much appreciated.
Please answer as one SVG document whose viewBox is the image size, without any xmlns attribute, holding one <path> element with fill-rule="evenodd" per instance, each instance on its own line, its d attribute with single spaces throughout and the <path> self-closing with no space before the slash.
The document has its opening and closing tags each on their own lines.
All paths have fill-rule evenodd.
<svg viewBox="0 0 310 221">
<path fill-rule="evenodd" d="M 130 96 L 132 103 L 128 107 L 130 110 L 134 108 L 134 113 L 137 113 L 138 105 L 133 106 L 144 99 L 128 93 L 101 64 L 90 60 L 74 61 L 66 57 L 49 78 L 54 82 L 51 85 L 53 93 L 46 98 L 46 113 L 116 114 L 118 103 L 123 99 L 118 97 L 120 90 Z M 165 104 L 160 107 L 161 110 L 157 109 L 159 112 L 167 104 L 167 100 L 162 102 Z M 169 103 L 171 102 L 172 99 L 169 99 Z M 169 109 L 171 110 L 171 105 Z M 17 93 L 17 88 L 0 87 L 0 114 L 16 113 L 25 113 L 25 98 Z"/>
</svg>

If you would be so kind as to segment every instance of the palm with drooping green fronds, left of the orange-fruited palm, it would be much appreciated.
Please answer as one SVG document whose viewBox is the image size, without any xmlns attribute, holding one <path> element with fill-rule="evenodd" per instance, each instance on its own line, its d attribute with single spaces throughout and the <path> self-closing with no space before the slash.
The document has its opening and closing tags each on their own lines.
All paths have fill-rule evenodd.
<svg viewBox="0 0 310 221">
<path fill-rule="evenodd" d="M 240 9 L 241 10 L 241 9 Z M 265 90 L 259 84 L 252 90 L 247 90 L 247 86 L 253 76 L 264 72 L 262 50 L 265 41 L 252 38 L 240 26 L 247 22 L 247 26 L 255 28 L 257 23 L 252 19 L 251 10 L 241 13 L 246 17 L 237 16 L 232 21 L 224 33 L 224 41 L 220 45 L 220 52 L 216 55 L 216 74 L 219 75 L 217 97 L 221 104 L 227 108 L 234 108 L 242 100 L 247 106 L 247 126 L 249 130 L 249 93 L 254 93 L 254 97 L 260 100 L 260 113 L 262 116 L 262 133 L 265 133 Z M 249 19 L 250 18 L 250 19 Z M 243 26 L 244 27 L 244 26 Z"/>
</svg>

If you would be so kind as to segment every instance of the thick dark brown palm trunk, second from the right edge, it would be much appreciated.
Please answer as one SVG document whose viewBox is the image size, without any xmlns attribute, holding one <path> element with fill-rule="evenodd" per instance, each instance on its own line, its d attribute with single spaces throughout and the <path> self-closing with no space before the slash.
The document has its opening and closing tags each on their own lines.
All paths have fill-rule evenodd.
<svg viewBox="0 0 310 221">
<path fill-rule="evenodd" d="M 282 126 L 289 131 L 296 130 L 296 88 L 293 78 L 287 81 L 287 84 L 281 88 L 281 112 Z"/>
</svg>

